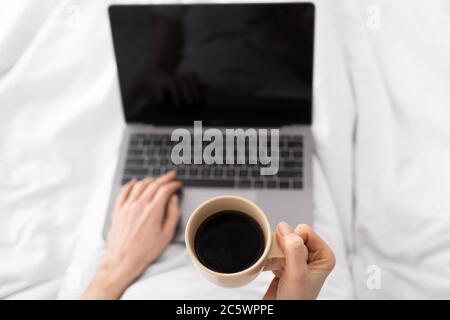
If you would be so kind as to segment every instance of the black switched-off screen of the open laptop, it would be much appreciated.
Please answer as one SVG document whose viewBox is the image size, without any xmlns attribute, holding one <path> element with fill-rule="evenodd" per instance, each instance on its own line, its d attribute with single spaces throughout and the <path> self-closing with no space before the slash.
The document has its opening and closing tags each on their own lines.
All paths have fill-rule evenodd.
<svg viewBox="0 0 450 320">
<path fill-rule="evenodd" d="M 310 3 L 113 5 L 128 123 L 310 124 Z"/>
</svg>

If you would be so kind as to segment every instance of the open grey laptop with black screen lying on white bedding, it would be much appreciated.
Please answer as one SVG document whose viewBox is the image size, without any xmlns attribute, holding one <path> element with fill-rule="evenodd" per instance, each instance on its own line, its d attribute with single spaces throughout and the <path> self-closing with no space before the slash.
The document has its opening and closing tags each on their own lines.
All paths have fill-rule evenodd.
<svg viewBox="0 0 450 320">
<path fill-rule="evenodd" d="M 183 241 L 193 210 L 219 195 L 255 202 L 273 227 L 312 224 L 314 5 L 112 5 L 109 19 L 126 128 L 104 235 L 121 186 L 169 170 L 183 182 L 174 241 Z M 223 150 L 222 163 L 180 163 L 173 158 L 177 129 L 193 134 L 192 145 L 199 138 L 197 147 L 210 143 L 208 129 L 224 140 L 235 129 L 234 151 Z M 249 129 L 260 141 L 266 132 L 267 144 L 252 144 Z M 262 173 L 267 161 L 251 161 L 263 145 L 273 156 L 271 174 Z M 233 162 L 233 155 L 244 159 Z"/>
</svg>

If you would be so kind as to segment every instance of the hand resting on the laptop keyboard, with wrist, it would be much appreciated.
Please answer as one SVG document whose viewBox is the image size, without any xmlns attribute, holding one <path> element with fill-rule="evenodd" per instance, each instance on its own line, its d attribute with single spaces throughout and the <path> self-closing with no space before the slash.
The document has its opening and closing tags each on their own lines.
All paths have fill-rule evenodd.
<svg viewBox="0 0 450 320">
<path fill-rule="evenodd" d="M 180 219 L 175 172 L 127 183 L 117 199 L 107 250 L 84 299 L 117 299 L 170 244 Z"/>
</svg>

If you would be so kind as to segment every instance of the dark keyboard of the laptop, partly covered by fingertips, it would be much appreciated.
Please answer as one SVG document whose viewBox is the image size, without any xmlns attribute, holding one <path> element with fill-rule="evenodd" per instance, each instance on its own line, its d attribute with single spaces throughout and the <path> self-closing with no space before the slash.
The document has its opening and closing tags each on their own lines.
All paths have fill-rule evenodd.
<svg viewBox="0 0 450 320">
<path fill-rule="evenodd" d="M 246 164 L 174 165 L 170 155 L 172 146 L 176 143 L 170 140 L 169 134 L 132 134 L 129 140 L 122 184 L 132 178 L 158 177 L 170 170 L 176 170 L 177 179 L 187 187 L 303 188 L 302 136 L 280 135 L 279 170 L 276 175 L 269 176 L 260 174 L 261 165 L 248 163 L 248 146 L 246 146 Z M 205 144 L 208 143 L 205 142 Z M 225 161 L 225 156 L 223 159 Z"/>
</svg>

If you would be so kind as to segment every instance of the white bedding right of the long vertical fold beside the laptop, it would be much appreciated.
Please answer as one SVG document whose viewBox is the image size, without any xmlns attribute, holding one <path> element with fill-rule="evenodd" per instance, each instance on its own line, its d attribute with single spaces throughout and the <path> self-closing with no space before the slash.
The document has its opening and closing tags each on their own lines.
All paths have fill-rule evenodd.
<svg viewBox="0 0 450 320">
<path fill-rule="evenodd" d="M 356 296 L 449 299 L 450 3 L 342 1 L 337 11 L 358 106 Z M 368 28 L 376 11 L 380 28 Z"/>
</svg>

